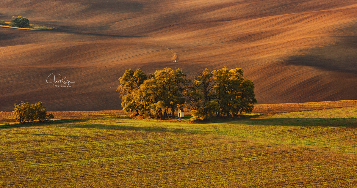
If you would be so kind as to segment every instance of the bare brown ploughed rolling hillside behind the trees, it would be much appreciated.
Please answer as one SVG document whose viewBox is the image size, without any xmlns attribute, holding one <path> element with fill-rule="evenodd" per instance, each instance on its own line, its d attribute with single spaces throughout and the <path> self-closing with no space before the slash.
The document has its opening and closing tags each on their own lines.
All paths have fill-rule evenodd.
<svg viewBox="0 0 357 188">
<path fill-rule="evenodd" d="M 0 111 L 39 100 L 48 111 L 121 109 L 129 68 L 242 68 L 258 104 L 357 99 L 352 0 L 5 0 L 0 12 L 57 28 L 0 28 Z M 71 87 L 46 82 L 59 74 Z"/>
</svg>

